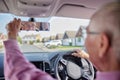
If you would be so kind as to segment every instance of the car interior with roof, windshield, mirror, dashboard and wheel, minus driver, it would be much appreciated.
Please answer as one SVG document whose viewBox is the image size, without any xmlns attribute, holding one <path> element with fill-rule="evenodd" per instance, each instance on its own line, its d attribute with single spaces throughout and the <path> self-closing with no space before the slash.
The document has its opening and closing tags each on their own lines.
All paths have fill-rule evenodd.
<svg viewBox="0 0 120 80">
<path fill-rule="evenodd" d="M 14 18 L 20 18 L 23 21 L 20 33 L 24 36 L 18 37 L 18 44 L 24 56 L 38 69 L 58 80 L 95 80 L 96 69 L 92 63 L 87 59 L 71 55 L 75 49 L 86 51 L 84 39 L 78 38 L 83 41 L 81 45 L 77 45 L 73 41 L 75 38 L 73 35 L 76 34 L 72 30 L 78 31 L 77 37 L 80 37 L 81 28 L 79 27 L 82 25 L 75 27 L 72 23 L 75 21 L 77 23 L 74 24 L 78 24 L 81 20 L 86 20 L 86 24 L 82 26 L 86 27 L 90 17 L 101 6 L 113 1 L 115 0 L 0 0 L 0 80 L 5 80 L 3 66 L 5 54 L 3 41 L 7 38 L 5 25 Z M 57 19 L 63 21 L 57 22 Z M 62 30 L 64 22 L 73 27 L 65 25 L 63 28 L 66 30 Z M 34 25 L 35 28 L 33 28 Z M 32 26 L 32 28 L 28 29 L 26 26 Z M 43 27 L 39 28 L 40 26 Z M 53 26 L 56 28 L 54 29 Z M 72 30 L 67 31 L 70 28 Z M 61 32 L 59 32 L 60 29 Z M 31 35 L 29 35 L 30 33 Z M 63 35 L 59 35 L 59 33 L 63 33 Z M 52 40 L 60 40 L 62 43 L 45 46 Z"/>
</svg>

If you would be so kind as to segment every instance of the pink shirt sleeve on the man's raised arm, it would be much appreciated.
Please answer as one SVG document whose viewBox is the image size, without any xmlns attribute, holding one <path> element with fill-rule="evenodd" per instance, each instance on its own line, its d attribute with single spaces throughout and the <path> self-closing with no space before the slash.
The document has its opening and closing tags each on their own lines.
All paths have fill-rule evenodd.
<svg viewBox="0 0 120 80">
<path fill-rule="evenodd" d="M 20 51 L 16 40 L 4 42 L 6 54 L 4 55 L 5 80 L 55 80 L 47 73 L 37 69 Z"/>
</svg>

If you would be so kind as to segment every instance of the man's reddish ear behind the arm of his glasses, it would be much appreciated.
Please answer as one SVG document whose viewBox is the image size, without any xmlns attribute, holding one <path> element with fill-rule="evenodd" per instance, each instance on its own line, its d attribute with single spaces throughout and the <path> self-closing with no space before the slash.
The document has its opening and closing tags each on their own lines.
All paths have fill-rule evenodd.
<svg viewBox="0 0 120 80">
<path fill-rule="evenodd" d="M 107 34 L 101 33 L 99 36 L 99 57 L 103 58 L 108 51 L 109 48 L 109 38 Z"/>
</svg>

